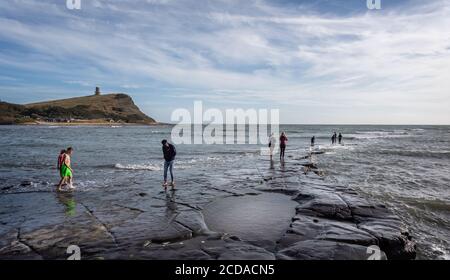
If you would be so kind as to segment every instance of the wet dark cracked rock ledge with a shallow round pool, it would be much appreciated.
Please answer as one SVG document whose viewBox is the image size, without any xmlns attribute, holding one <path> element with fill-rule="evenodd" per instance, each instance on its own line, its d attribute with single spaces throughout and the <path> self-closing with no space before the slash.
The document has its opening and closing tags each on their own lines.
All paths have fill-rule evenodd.
<svg viewBox="0 0 450 280">
<path fill-rule="evenodd" d="M 66 259 L 70 245 L 82 259 L 366 260 L 372 245 L 382 259 L 415 258 L 398 217 L 323 176 L 307 158 L 259 158 L 191 172 L 176 192 L 139 180 L 74 193 L 5 189 L 0 259 Z"/>
</svg>

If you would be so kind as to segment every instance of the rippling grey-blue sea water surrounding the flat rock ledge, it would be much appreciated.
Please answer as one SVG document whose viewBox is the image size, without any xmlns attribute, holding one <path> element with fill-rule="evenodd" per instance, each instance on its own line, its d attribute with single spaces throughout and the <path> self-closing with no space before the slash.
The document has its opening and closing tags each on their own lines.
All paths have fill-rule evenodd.
<svg viewBox="0 0 450 280">
<path fill-rule="evenodd" d="M 78 192 L 162 180 L 161 140 L 171 126 L 0 127 L 0 195 L 52 191 L 56 159 L 72 146 Z M 325 180 L 387 204 L 408 225 L 420 259 L 450 259 L 450 126 L 285 125 L 287 156 L 302 156 L 312 135 L 325 152 Z M 332 132 L 344 135 L 331 145 Z M 177 145 L 176 181 L 253 166 L 261 145 Z M 153 182 L 153 184 L 150 184 Z M 195 195 L 195 189 L 191 190 Z M 0 205 L 0 208 L 2 205 Z"/>
</svg>

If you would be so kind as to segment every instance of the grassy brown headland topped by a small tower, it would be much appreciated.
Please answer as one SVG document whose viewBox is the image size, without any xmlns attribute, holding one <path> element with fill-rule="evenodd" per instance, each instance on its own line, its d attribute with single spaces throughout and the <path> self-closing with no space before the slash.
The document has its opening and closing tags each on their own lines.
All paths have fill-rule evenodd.
<svg viewBox="0 0 450 280">
<path fill-rule="evenodd" d="M 0 125 L 8 124 L 158 124 L 124 93 L 101 94 L 25 105 L 0 102 Z"/>
</svg>

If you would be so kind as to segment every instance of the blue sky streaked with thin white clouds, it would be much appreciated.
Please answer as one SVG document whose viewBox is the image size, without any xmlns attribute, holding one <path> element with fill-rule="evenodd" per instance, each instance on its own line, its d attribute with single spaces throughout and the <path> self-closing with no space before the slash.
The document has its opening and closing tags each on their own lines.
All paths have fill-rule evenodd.
<svg viewBox="0 0 450 280">
<path fill-rule="evenodd" d="M 450 1 L 0 2 L 0 100 L 131 95 L 292 124 L 450 124 Z"/>
</svg>

